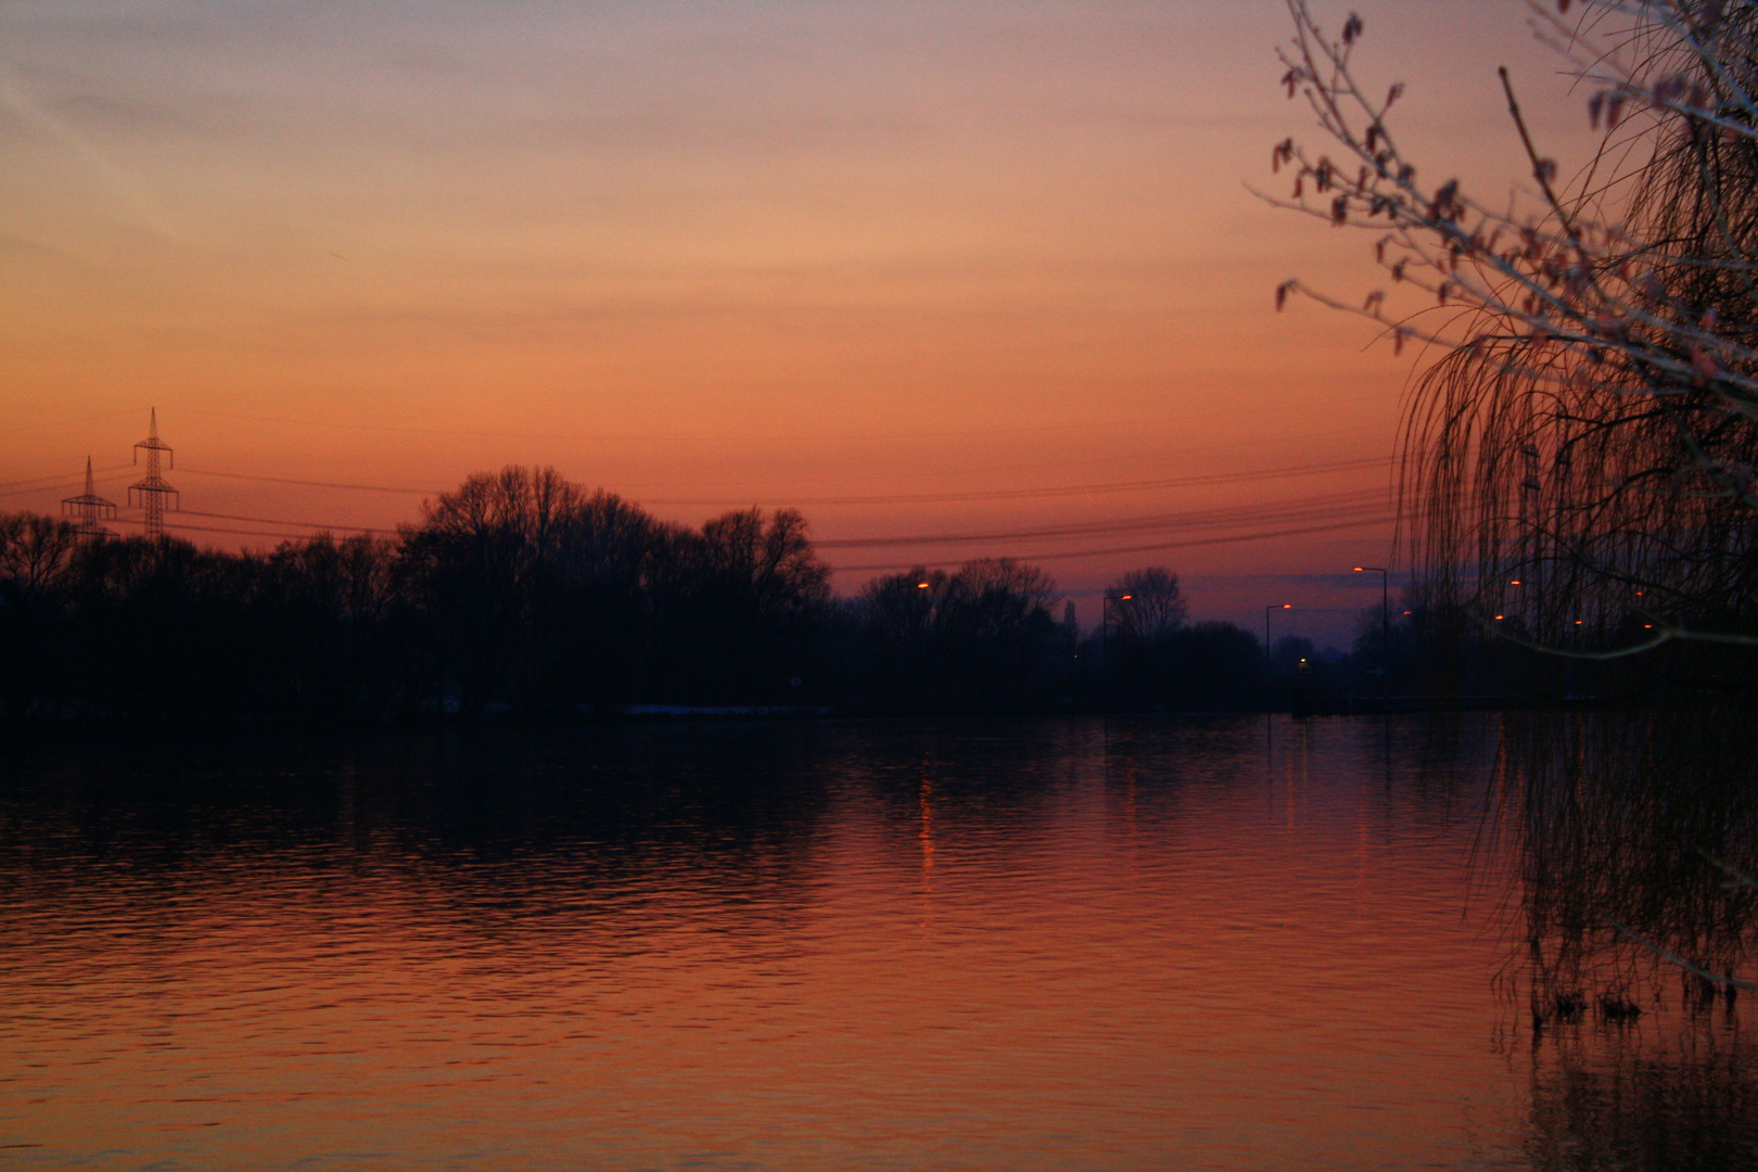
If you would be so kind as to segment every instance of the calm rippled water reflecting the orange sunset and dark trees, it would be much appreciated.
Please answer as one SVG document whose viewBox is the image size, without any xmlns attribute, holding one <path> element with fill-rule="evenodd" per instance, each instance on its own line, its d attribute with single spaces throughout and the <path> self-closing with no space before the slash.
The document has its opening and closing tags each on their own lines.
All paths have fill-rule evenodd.
<svg viewBox="0 0 1758 1172">
<path fill-rule="evenodd" d="M 1533 1038 L 1493 742 L 14 747 L 0 1168 L 1758 1167 L 1737 1012 Z"/>
</svg>

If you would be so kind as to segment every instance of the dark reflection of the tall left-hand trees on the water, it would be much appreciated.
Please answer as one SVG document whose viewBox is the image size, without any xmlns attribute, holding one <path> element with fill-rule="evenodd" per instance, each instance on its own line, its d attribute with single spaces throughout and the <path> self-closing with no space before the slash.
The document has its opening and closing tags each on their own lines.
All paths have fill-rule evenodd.
<svg viewBox="0 0 1758 1172">
<path fill-rule="evenodd" d="M 617 931 L 689 914 L 728 924 L 809 901 L 826 792 L 786 726 L 411 736 L 165 738 L 91 745 L 77 763 L 12 756 L 0 886 L 39 900 L 299 903 L 420 893 L 424 915 L 494 933 L 520 922 Z M 288 894 L 294 893 L 294 894 Z M 642 908 L 638 922 L 612 915 Z"/>
</svg>

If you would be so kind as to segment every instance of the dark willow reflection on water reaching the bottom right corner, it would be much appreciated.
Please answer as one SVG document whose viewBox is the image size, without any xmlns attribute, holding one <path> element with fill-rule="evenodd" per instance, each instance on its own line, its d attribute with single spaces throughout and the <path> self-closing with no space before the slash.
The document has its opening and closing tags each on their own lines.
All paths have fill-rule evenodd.
<svg viewBox="0 0 1758 1172">
<path fill-rule="evenodd" d="M 1744 712 L 1510 715 L 1491 831 L 1517 873 L 1503 972 L 1529 1012 L 1535 1168 L 1758 1165 L 1749 975 L 1758 856 Z M 1621 931 L 1623 924 L 1628 931 Z"/>
</svg>

